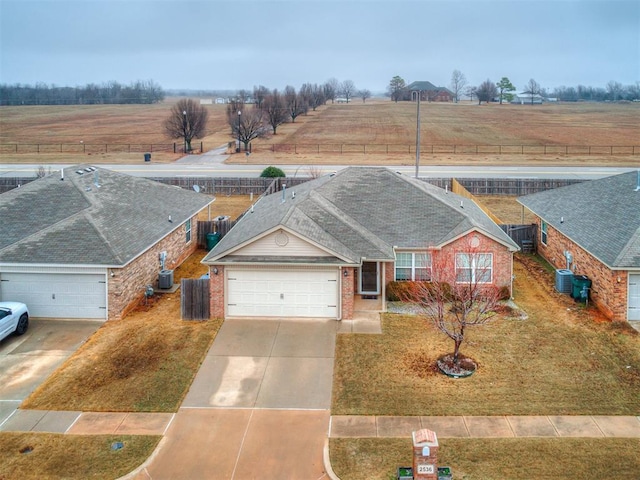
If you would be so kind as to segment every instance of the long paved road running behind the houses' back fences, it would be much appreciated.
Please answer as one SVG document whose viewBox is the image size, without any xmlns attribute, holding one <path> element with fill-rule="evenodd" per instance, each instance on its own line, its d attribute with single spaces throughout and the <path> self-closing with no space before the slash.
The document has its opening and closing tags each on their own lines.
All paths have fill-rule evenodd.
<svg viewBox="0 0 640 480">
<path fill-rule="evenodd" d="M 145 163 L 139 165 L 101 165 L 114 171 L 141 177 L 257 177 L 264 165 L 227 165 L 225 155 L 191 156 L 175 163 Z M 57 171 L 70 165 L 45 165 L 48 171 Z M 639 165 L 640 166 L 640 165 Z M 0 176 L 32 177 L 40 165 L 0 164 Z M 306 176 L 308 165 L 279 166 L 288 177 Z M 322 172 L 330 173 L 345 168 L 346 165 L 323 165 Z M 390 165 L 388 168 L 404 175 L 414 176 L 415 166 Z M 593 180 L 633 170 L 631 167 L 498 167 L 498 166 L 429 166 L 420 167 L 421 177 L 458 178 L 577 178 Z"/>
</svg>

